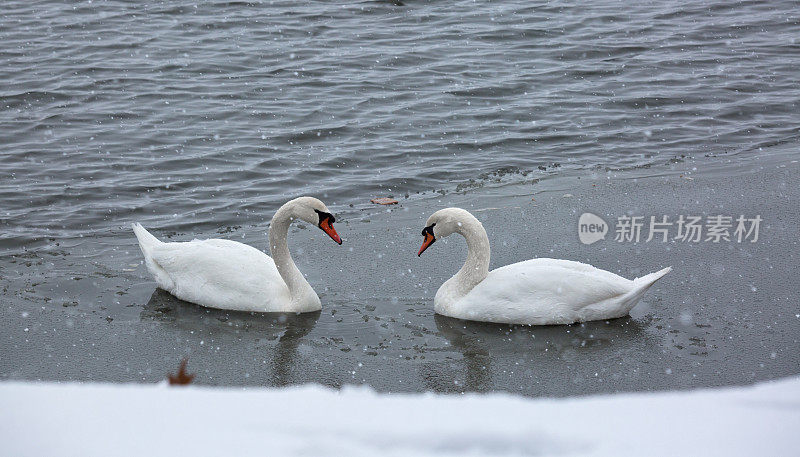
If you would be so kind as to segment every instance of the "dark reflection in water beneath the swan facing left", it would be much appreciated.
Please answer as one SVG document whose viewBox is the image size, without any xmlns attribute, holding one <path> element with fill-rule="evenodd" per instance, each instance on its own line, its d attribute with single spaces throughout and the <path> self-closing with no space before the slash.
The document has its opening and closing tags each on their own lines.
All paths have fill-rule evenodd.
<svg viewBox="0 0 800 457">
<path fill-rule="evenodd" d="M 498 388 L 497 376 L 523 369 L 546 373 L 547 364 L 583 365 L 582 357 L 602 360 L 635 351 L 646 341 L 646 324 L 630 317 L 569 326 L 525 326 L 475 322 L 436 314 L 436 328 L 463 357 L 464 376 L 452 363 L 427 363 L 423 382 L 437 392 L 483 392 Z M 503 373 L 503 374 L 500 374 Z M 457 381 L 464 379 L 464 385 Z"/>
</svg>

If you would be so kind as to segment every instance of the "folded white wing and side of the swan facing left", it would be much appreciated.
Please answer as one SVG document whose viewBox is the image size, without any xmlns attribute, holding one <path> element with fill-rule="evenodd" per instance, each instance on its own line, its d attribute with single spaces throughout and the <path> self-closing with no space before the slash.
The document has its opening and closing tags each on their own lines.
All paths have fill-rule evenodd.
<svg viewBox="0 0 800 457">
<path fill-rule="evenodd" d="M 591 265 L 533 259 L 489 272 L 453 311 L 489 322 L 571 323 L 585 320 L 586 309 L 613 308 L 632 287 L 633 281 Z"/>
</svg>

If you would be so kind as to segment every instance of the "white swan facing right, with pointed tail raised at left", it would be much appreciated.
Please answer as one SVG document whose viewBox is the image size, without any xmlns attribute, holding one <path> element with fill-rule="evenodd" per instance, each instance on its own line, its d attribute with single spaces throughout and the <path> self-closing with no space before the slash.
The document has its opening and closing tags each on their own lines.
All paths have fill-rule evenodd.
<svg viewBox="0 0 800 457">
<path fill-rule="evenodd" d="M 238 311 L 319 311 L 319 297 L 286 246 L 289 224 L 295 219 L 318 226 L 342 244 L 332 225 L 333 215 L 312 197 L 291 200 L 275 213 L 269 226 L 271 258 L 230 240 L 164 243 L 138 223 L 133 224 L 133 231 L 158 287 L 181 300 Z"/>
</svg>

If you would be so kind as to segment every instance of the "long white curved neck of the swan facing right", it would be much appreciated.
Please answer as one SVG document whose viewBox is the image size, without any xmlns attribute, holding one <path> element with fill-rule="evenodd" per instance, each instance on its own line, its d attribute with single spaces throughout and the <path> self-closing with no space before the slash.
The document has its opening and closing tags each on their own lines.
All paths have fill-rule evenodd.
<svg viewBox="0 0 800 457">
<path fill-rule="evenodd" d="M 269 251 L 272 254 L 272 260 L 275 261 L 275 266 L 278 268 L 278 273 L 289 288 L 292 301 L 298 301 L 303 300 L 309 294 L 316 297 L 316 293 L 303 274 L 300 273 L 297 265 L 295 265 L 292 255 L 289 253 L 289 246 L 286 243 L 289 225 L 292 223 L 292 208 L 290 204 L 291 202 L 281 206 L 272 218 L 272 223 L 269 226 Z"/>
</svg>

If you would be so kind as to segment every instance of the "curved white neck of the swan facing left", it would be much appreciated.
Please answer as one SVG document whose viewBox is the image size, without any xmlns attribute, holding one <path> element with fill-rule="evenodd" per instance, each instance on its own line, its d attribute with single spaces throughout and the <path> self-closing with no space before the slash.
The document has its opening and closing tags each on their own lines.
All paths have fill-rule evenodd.
<svg viewBox="0 0 800 457">
<path fill-rule="evenodd" d="M 489 274 L 491 249 L 489 236 L 486 235 L 486 230 L 480 221 L 471 214 L 466 214 L 459 222 L 456 233 L 460 233 L 467 240 L 467 260 L 450 281 L 453 282 L 454 292 L 463 296 Z"/>
</svg>

